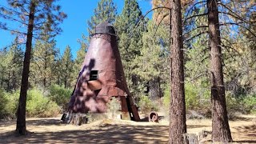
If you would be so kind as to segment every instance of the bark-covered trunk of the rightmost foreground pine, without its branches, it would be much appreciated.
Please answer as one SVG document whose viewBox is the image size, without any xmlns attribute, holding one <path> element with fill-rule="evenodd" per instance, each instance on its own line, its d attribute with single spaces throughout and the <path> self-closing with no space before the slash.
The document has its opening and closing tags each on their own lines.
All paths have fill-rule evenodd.
<svg viewBox="0 0 256 144">
<path fill-rule="evenodd" d="M 223 82 L 222 50 L 217 3 L 216 0 L 207 0 L 210 34 L 212 140 L 213 142 L 231 142 L 232 138 L 227 118 L 225 87 Z"/>
</svg>

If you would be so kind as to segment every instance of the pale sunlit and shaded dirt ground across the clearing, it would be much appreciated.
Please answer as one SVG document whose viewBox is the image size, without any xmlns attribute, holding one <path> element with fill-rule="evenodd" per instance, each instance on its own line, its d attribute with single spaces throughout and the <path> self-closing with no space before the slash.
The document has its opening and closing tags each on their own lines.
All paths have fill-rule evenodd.
<svg viewBox="0 0 256 144">
<path fill-rule="evenodd" d="M 15 136 L 15 121 L 0 121 L 0 143 L 167 143 L 168 123 L 102 120 L 66 125 L 60 118 L 27 118 L 29 134 Z M 187 131 L 198 134 L 211 130 L 210 119 L 188 120 Z M 246 115 L 230 121 L 234 143 L 256 143 L 256 115 Z M 202 143 L 211 143 L 210 134 Z"/>
</svg>

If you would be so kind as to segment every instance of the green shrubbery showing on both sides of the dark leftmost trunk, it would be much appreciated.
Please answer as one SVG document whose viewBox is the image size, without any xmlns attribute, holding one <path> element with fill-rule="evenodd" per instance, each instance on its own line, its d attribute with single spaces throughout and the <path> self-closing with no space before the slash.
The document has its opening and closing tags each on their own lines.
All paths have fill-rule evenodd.
<svg viewBox="0 0 256 144">
<path fill-rule="evenodd" d="M 5 93 L 0 90 L 0 118 L 15 118 L 18 108 L 19 91 Z M 60 107 L 43 95 L 42 90 L 28 90 L 26 98 L 27 117 L 53 117 Z"/>
</svg>

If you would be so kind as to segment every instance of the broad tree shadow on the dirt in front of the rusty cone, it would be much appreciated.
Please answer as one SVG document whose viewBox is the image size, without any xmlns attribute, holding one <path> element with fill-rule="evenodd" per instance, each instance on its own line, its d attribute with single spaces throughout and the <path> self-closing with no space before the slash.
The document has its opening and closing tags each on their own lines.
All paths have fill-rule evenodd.
<svg viewBox="0 0 256 144">
<path fill-rule="evenodd" d="M 63 130 L 0 136 L 4 143 L 166 143 L 168 126 L 127 126 L 104 124 L 94 130 Z"/>
</svg>

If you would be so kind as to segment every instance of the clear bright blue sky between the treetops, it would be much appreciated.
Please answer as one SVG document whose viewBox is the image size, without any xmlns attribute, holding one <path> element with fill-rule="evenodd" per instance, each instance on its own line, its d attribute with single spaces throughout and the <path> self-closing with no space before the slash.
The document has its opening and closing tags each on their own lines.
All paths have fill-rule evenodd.
<svg viewBox="0 0 256 144">
<path fill-rule="evenodd" d="M 0 4 L 6 4 L 6 0 L 0 0 Z M 82 34 L 88 35 L 86 21 L 94 14 L 94 8 L 100 0 L 60 0 L 58 3 L 62 6 L 62 10 L 68 15 L 68 18 L 61 24 L 62 34 L 58 35 L 55 40 L 57 47 L 61 52 L 69 45 L 72 49 L 72 54 L 76 55 L 79 49 L 78 38 L 82 38 Z M 118 6 L 118 14 L 122 12 L 124 0 L 114 0 Z M 138 4 L 143 14 L 151 9 L 150 0 L 138 0 Z M 151 18 L 151 14 L 148 15 Z M 0 49 L 4 46 L 9 46 L 14 40 L 14 36 L 10 32 L 0 30 Z"/>
</svg>

